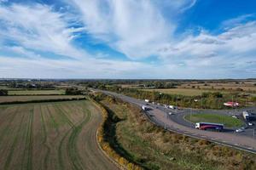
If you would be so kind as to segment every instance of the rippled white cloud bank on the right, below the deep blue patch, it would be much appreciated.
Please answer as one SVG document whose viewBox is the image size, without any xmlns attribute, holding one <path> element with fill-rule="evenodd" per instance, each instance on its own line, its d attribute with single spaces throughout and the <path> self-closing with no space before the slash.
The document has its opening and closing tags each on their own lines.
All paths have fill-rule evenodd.
<svg viewBox="0 0 256 170">
<path fill-rule="evenodd" d="M 232 71 L 252 70 L 256 67 L 256 21 L 247 22 L 211 35 L 201 31 L 198 36 L 189 36 L 183 41 L 169 43 L 159 49 L 162 59 L 183 63 L 189 69 L 201 70 L 204 73 L 223 71 L 223 75 Z M 251 68 L 250 68 L 251 67 Z M 255 73 L 252 72 L 252 76 Z"/>
</svg>

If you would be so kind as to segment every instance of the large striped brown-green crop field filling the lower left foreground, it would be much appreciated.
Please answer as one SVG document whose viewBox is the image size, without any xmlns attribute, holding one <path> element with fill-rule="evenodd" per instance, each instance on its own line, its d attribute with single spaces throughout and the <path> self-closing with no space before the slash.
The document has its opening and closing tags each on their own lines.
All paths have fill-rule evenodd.
<svg viewBox="0 0 256 170">
<path fill-rule="evenodd" d="M 0 169 L 116 169 L 96 143 L 89 100 L 0 106 Z"/>
</svg>

